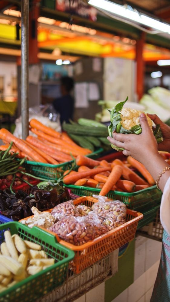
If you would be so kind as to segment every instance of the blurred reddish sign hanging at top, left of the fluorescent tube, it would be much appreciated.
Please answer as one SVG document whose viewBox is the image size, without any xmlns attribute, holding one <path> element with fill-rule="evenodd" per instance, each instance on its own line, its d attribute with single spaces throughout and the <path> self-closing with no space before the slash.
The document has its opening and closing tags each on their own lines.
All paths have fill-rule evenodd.
<svg viewBox="0 0 170 302">
<path fill-rule="evenodd" d="M 97 10 L 80 0 L 56 0 L 56 9 L 78 15 L 91 21 L 97 20 Z"/>
</svg>

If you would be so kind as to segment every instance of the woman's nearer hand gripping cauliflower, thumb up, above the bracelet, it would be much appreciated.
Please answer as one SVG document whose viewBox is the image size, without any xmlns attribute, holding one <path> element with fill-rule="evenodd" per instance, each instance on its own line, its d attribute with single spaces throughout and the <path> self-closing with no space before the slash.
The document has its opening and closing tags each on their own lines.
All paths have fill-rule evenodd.
<svg viewBox="0 0 170 302">
<path fill-rule="evenodd" d="M 113 138 L 108 137 L 107 139 L 110 143 L 125 149 L 123 150 L 124 155 L 130 155 L 145 164 L 145 159 L 148 160 L 152 154 L 158 155 L 158 145 L 144 113 L 140 116 L 140 124 L 142 127 L 141 134 L 120 134 L 114 132 Z"/>
</svg>

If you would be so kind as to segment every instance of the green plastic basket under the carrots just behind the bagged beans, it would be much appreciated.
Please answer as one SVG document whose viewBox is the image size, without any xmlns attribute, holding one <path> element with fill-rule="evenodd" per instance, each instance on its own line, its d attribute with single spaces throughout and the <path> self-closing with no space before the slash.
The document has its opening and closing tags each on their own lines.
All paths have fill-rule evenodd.
<svg viewBox="0 0 170 302">
<path fill-rule="evenodd" d="M 97 188 L 84 186 L 65 185 L 65 187 L 71 189 L 71 192 L 78 196 L 99 195 L 101 191 Z M 123 201 L 129 209 L 140 212 L 142 209 L 145 210 L 160 204 L 162 192 L 155 185 L 134 193 L 110 191 L 106 196 L 113 200 Z"/>
</svg>

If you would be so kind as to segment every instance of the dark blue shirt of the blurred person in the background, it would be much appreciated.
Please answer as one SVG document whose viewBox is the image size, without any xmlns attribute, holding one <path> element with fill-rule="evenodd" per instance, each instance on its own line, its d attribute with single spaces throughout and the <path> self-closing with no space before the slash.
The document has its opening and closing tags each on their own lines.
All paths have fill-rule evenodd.
<svg viewBox="0 0 170 302">
<path fill-rule="evenodd" d="M 69 123 L 69 119 L 73 120 L 74 112 L 74 99 L 70 95 L 64 95 L 60 98 L 56 98 L 53 101 L 54 109 L 60 113 L 61 125 L 65 121 Z"/>
</svg>

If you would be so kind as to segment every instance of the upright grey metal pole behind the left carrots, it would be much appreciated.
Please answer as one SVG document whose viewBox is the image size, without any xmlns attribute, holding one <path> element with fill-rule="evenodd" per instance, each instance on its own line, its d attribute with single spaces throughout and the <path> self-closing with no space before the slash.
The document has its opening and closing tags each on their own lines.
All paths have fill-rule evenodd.
<svg viewBox="0 0 170 302">
<path fill-rule="evenodd" d="M 28 25 L 29 0 L 21 0 L 21 119 L 22 139 L 29 133 L 28 113 Z"/>
</svg>

